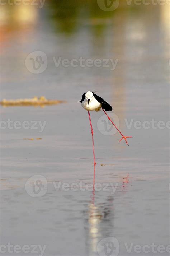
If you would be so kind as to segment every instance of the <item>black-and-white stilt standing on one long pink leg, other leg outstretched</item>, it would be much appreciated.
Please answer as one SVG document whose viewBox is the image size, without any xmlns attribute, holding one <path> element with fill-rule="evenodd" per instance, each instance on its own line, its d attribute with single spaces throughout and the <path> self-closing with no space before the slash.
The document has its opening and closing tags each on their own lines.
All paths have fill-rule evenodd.
<svg viewBox="0 0 170 256">
<path fill-rule="evenodd" d="M 96 91 L 95 91 L 96 92 Z M 127 138 L 132 138 L 131 136 L 124 136 L 122 134 L 121 131 L 119 131 L 119 129 L 117 128 L 117 126 L 114 124 L 114 122 L 112 122 L 112 120 L 110 119 L 110 117 L 108 116 L 108 114 L 106 113 L 106 111 L 112 111 L 113 108 L 112 106 L 110 106 L 109 103 L 107 103 L 103 98 L 99 97 L 98 95 L 95 94 L 95 92 L 85 92 L 82 95 L 81 101 L 77 101 L 81 103 L 81 106 L 83 108 L 85 108 L 85 110 L 88 111 L 88 115 L 89 115 L 89 121 L 90 121 L 90 127 L 91 127 L 91 134 L 92 134 L 92 144 L 93 144 L 93 158 L 94 158 L 94 165 L 96 165 L 96 161 L 95 161 L 95 153 L 94 153 L 94 139 L 93 139 L 93 127 L 91 124 L 91 118 L 90 118 L 90 111 L 95 110 L 96 112 L 101 111 L 101 109 L 104 111 L 105 115 L 107 115 L 108 120 L 110 120 L 110 122 L 114 125 L 114 127 L 118 130 L 118 132 L 122 135 L 122 138 L 119 140 L 119 142 L 121 142 L 121 140 L 125 140 L 126 144 L 127 143 Z"/>
</svg>

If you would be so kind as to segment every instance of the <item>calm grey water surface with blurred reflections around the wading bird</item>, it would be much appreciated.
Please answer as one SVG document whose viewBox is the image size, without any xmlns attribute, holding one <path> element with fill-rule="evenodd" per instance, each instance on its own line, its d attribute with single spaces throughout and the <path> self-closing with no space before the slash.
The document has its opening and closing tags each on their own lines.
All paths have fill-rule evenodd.
<svg viewBox="0 0 170 256">
<path fill-rule="evenodd" d="M 106 256 L 118 249 L 119 255 L 145 255 L 135 245 L 148 245 L 147 255 L 154 255 L 154 242 L 156 255 L 168 254 L 158 251 L 169 245 L 169 129 L 158 125 L 169 121 L 168 8 L 105 12 L 94 2 L 74 1 L 49 1 L 42 9 L 3 6 L 1 99 L 44 95 L 67 103 L 1 107 L 5 122 L 45 122 L 42 132 L 39 123 L 1 129 L 1 245 L 37 245 L 34 255 Z M 47 55 L 39 74 L 25 66 L 34 51 Z M 109 58 L 117 65 L 56 67 L 60 56 Z M 76 103 L 87 90 L 106 99 L 123 134 L 133 136 L 129 147 L 119 144 L 121 135 L 103 113 L 91 112 L 95 181 L 88 113 Z"/>
</svg>

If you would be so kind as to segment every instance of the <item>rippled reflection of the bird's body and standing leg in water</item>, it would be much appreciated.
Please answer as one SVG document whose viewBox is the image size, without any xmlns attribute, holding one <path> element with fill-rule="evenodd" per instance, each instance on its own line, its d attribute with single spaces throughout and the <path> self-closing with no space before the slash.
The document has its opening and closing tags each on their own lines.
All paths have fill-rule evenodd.
<svg viewBox="0 0 170 256">
<path fill-rule="evenodd" d="M 98 198 L 100 199 L 99 196 Z M 91 203 L 88 205 L 88 210 L 85 212 L 85 237 L 87 255 L 96 255 L 98 242 L 105 237 L 111 236 L 113 232 L 113 217 L 113 195 L 109 195 L 103 203 L 100 201 L 99 203 L 95 204 L 94 166 Z"/>
</svg>

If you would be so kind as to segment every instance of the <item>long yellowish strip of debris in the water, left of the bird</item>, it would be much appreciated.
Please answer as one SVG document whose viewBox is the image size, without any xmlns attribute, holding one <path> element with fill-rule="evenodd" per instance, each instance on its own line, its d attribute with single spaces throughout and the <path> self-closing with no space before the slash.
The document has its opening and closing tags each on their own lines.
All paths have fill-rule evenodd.
<svg viewBox="0 0 170 256">
<path fill-rule="evenodd" d="M 51 99 L 46 99 L 45 96 L 37 97 L 34 96 L 33 98 L 28 98 L 28 99 L 3 99 L 0 104 L 4 107 L 8 106 L 41 106 L 43 107 L 44 105 L 56 105 L 60 103 L 65 103 L 66 101 L 60 101 L 60 100 L 51 100 Z"/>
</svg>

